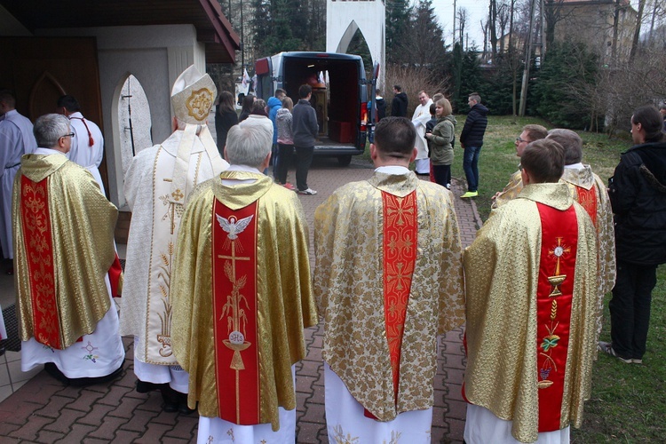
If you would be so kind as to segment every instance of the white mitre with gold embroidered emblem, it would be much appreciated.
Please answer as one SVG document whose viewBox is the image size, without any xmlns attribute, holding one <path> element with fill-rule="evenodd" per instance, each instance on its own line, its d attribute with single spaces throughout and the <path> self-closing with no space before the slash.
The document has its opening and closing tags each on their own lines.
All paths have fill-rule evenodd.
<svg viewBox="0 0 666 444">
<path fill-rule="evenodd" d="M 185 123 L 205 124 L 218 89 L 210 75 L 191 65 L 178 75 L 171 90 L 171 106 L 178 120 Z"/>
</svg>

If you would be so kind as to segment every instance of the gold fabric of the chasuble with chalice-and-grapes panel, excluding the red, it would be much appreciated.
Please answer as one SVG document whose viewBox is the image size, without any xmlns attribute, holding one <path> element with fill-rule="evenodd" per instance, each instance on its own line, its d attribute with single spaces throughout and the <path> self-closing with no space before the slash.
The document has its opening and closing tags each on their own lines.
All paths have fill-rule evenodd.
<svg viewBox="0 0 666 444">
<path fill-rule="evenodd" d="M 464 252 L 467 290 L 467 369 L 473 404 L 513 421 L 516 440 L 538 436 L 536 285 L 541 219 L 535 202 L 558 210 L 575 205 L 578 245 L 560 428 L 583 422 L 597 347 L 596 235 L 567 186 L 536 184 L 491 212 Z"/>
</svg>

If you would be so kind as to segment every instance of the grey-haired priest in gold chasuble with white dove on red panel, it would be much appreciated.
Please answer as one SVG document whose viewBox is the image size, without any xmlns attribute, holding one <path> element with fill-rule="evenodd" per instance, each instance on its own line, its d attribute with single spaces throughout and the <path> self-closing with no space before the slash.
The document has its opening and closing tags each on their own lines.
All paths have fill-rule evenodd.
<svg viewBox="0 0 666 444">
<path fill-rule="evenodd" d="M 317 315 L 303 208 L 261 173 L 272 143 L 272 127 L 232 127 L 231 166 L 194 190 L 178 233 L 172 344 L 201 443 L 294 442 L 293 365 Z"/>
</svg>

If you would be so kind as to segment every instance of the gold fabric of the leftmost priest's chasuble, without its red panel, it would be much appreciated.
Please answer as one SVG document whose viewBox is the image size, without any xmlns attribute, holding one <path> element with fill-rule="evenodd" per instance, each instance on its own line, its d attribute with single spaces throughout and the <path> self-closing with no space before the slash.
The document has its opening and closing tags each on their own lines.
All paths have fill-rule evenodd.
<svg viewBox="0 0 666 444">
<path fill-rule="evenodd" d="M 20 337 L 34 337 L 30 275 L 22 229 L 21 177 L 48 178 L 52 261 L 62 348 L 90 334 L 111 306 L 105 276 L 115 259 L 113 203 L 99 191 L 88 170 L 64 155 L 24 155 L 12 196 L 14 281 L 19 305 Z"/>
</svg>

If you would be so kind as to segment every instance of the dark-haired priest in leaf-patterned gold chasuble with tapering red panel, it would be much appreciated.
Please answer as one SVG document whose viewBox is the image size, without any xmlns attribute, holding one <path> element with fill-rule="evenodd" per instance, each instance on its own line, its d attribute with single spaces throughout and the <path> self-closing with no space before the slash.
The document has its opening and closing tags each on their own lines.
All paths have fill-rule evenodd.
<svg viewBox="0 0 666 444">
<path fill-rule="evenodd" d="M 330 442 L 430 443 L 437 335 L 464 321 L 452 194 L 408 170 L 414 125 L 377 123 L 368 180 L 315 212 Z"/>
</svg>

